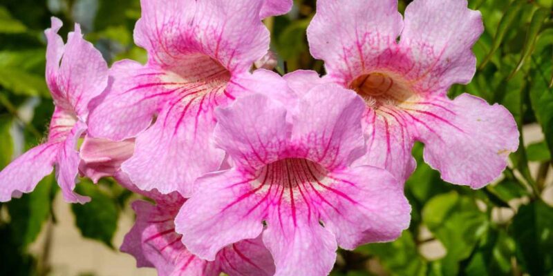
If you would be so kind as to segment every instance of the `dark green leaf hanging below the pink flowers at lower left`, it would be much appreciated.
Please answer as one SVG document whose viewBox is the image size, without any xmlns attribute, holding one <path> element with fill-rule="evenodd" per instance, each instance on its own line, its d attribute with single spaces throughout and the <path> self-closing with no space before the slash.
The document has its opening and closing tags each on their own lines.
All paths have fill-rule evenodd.
<svg viewBox="0 0 553 276">
<path fill-rule="evenodd" d="M 91 197 L 87 204 L 73 204 L 75 224 L 83 237 L 95 239 L 113 248 L 111 240 L 117 229 L 119 209 L 115 199 L 100 190 L 91 181 L 82 181 L 76 189 L 80 195 Z"/>
</svg>

